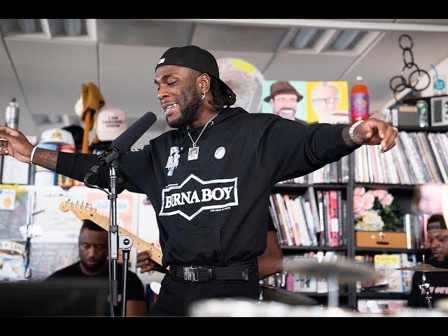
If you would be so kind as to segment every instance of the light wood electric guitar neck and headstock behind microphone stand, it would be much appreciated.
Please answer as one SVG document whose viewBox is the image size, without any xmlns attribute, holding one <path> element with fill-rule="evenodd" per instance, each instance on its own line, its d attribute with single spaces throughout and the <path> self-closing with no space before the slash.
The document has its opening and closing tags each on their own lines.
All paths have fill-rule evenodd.
<svg viewBox="0 0 448 336">
<path fill-rule="evenodd" d="M 97 214 L 97 209 L 94 207 L 90 207 L 90 204 L 86 203 L 78 203 L 78 202 L 61 202 L 59 204 L 59 210 L 62 212 L 71 211 L 78 217 L 81 221 L 84 219 L 88 219 L 93 223 L 97 224 L 99 227 L 103 228 L 106 231 L 109 231 L 109 218 L 104 217 L 100 214 Z M 154 246 L 153 243 L 148 243 L 143 239 L 133 235 L 131 232 L 118 227 L 118 235 L 130 236 L 134 240 L 134 246 L 137 248 L 137 251 L 151 251 L 151 259 L 157 262 L 160 266 L 162 266 L 162 251 Z"/>
</svg>

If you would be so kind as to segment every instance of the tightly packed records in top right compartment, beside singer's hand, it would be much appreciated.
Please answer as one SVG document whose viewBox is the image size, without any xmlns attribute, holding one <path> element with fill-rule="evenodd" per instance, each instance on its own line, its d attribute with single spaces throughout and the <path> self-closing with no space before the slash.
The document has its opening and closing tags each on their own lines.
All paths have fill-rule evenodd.
<svg viewBox="0 0 448 336">
<path fill-rule="evenodd" d="M 448 183 L 447 132 L 398 132 L 397 145 L 386 153 L 380 146 L 354 152 L 356 183 L 405 185 Z"/>
</svg>

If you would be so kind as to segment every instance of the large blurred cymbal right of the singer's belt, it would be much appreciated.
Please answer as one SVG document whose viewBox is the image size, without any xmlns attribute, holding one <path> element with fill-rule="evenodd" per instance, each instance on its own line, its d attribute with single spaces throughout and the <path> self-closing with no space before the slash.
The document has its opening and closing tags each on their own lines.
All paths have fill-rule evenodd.
<svg viewBox="0 0 448 336">
<path fill-rule="evenodd" d="M 347 259 L 323 260 L 316 258 L 284 258 L 283 269 L 323 278 L 335 278 L 339 282 L 374 281 L 383 276 L 370 265 L 349 261 Z"/>
</svg>

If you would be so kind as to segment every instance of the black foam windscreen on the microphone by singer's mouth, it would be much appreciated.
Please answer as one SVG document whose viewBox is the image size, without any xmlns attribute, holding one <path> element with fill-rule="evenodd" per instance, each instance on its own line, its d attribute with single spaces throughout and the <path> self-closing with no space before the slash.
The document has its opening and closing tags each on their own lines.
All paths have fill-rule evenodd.
<svg viewBox="0 0 448 336">
<path fill-rule="evenodd" d="M 128 127 L 125 132 L 112 141 L 112 147 L 116 148 L 119 154 L 126 153 L 149 129 L 149 127 L 155 123 L 155 120 L 157 120 L 157 117 L 154 113 L 146 112 L 144 116 L 139 118 L 139 120 Z"/>
</svg>

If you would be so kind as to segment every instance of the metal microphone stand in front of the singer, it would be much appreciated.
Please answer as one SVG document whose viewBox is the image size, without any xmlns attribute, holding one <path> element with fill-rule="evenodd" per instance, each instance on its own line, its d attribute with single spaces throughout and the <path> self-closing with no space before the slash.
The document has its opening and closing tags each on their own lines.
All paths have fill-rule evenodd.
<svg viewBox="0 0 448 336">
<path fill-rule="evenodd" d="M 126 283 L 127 283 L 127 262 L 129 260 L 129 253 L 132 247 L 132 237 L 119 236 L 118 224 L 117 224 L 117 184 L 121 183 L 121 179 L 117 176 L 118 163 L 113 160 L 109 164 L 109 186 L 111 186 L 111 192 L 93 186 L 88 182 L 91 174 L 87 174 L 84 179 L 84 184 L 88 188 L 95 188 L 103 190 L 107 194 L 108 200 L 110 200 L 110 216 L 109 216 L 109 283 L 111 284 L 109 291 L 111 297 L 111 303 L 113 306 L 118 305 L 118 279 L 117 279 L 117 260 L 118 260 L 118 248 L 123 251 L 123 296 L 122 296 L 122 316 L 126 316 Z M 111 316 L 113 314 L 113 308 L 111 307 Z"/>
</svg>

